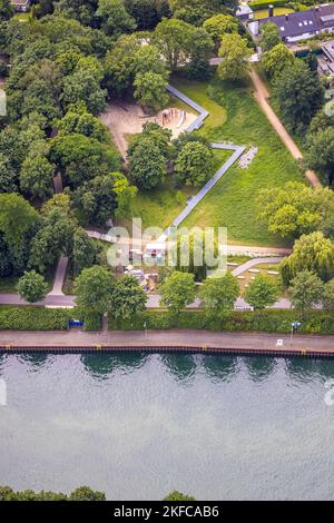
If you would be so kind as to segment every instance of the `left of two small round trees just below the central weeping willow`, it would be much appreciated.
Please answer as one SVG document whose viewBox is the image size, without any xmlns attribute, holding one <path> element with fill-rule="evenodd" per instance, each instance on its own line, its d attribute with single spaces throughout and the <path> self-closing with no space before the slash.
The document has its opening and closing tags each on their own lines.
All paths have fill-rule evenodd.
<svg viewBox="0 0 334 523">
<path fill-rule="evenodd" d="M 161 305 L 176 316 L 195 300 L 194 275 L 175 270 L 159 287 Z"/>
</svg>

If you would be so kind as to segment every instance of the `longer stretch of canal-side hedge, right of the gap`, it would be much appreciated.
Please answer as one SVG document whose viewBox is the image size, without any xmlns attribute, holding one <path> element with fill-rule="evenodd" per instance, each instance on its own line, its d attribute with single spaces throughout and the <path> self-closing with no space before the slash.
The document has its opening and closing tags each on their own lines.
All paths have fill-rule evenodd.
<svg viewBox="0 0 334 523">
<path fill-rule="evenodd" d="M 292 322 L 301 319 L 294 310 L 234 312 L 222 324 L 217 319 L 208 319 L 200 310 L 184 312 L 176 319 L 167 312 L 147 310 L 131 320 L 109 320 L 110 329 L 143 330 L 148 329 L 205 328 L 208 330 L 258 330 L 265 333 L 289 333 Z M 301 319 L 302 334 L 334 334 L 333 312 L 310 312 Z"/>
</svg>

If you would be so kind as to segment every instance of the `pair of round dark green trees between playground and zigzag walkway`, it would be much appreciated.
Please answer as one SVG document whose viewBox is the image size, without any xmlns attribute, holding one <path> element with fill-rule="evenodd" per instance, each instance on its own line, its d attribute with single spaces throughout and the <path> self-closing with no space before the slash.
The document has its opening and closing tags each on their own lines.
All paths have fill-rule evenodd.
<svg viewBox="0 0 334 523">
<path fill-rule="evenodd" d="M 129 175 L 139 189 L 150 190 L 173 170 L 176 187 L 202 186 L 213 169 L 209 142 L 195 135 L 181 134 L 170 142 L 171 131 L 147 122 L 128 148 Z"/>
</svg>

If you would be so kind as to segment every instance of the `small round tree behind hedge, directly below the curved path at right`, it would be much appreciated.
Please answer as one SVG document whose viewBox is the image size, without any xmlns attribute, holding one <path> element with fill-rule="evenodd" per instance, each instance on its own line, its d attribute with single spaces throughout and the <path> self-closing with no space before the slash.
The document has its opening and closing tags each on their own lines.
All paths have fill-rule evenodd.
<svg viewBox="0 0 334 523">
<path fill-rule="evenodd" d="M 269 276 L 258 274 L 255 279 L 249 283 L 245 290 L 245 300 L 252 305 L 255 310 L 262 310 L 265 307 L 274 305 L 278 299 L 279 288 L 276 282 Z"/>
</svg>

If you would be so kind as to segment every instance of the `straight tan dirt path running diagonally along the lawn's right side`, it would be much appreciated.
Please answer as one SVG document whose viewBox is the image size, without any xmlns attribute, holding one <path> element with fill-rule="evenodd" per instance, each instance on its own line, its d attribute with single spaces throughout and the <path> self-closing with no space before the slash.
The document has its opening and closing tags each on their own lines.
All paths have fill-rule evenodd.
<svg viewBox="0 0 334 523">
<path fill-rule="evenodd" d="M 253 85 L 255 87 L 254 97 L 255 97 L 256 101 L 258 102 L 258 105 L 261 106 L 261 108 L 263 109 L 263 111 L 266 115 L 267 119 L 269 120 L 271 125 L 273 126 L 273 128 L 275 129 L 277 135 L 279 136 L 279 138 L 283 141 L 283 144 L 285 145 L 285 147 L 289 150 L 293 158 L 295 158 L 296 160 L 302 159 L 303 155 L 302 155 L 301 149 L 297 147 L 297 145 L 294 142 L 294 140 L 292 139 L 289 134 L 286 131 L 286 129 L 283 126 L 282 121 L 276 116 L 273 108 L 271 107 L 271 105 L 267 101 L 267 98 L 269 98 L 269 92 L 268 92 L 266 86 L 264 85 L 264 82 L 262 81 L 262 79 L 259 78 L 257 72 L 254 71 L 254 69 L 250 69 L 249 76 L 250 76 L 250 79 L 252 79 Z M 313 187 L 320 187 L 321 186 L 320 179 L 313 170 L 307 170 L 305 172 L 305 176 L 306 176 L 306 178 L 308 179 L 310 184 Z"/>
</svg>

